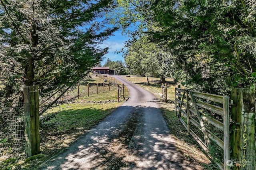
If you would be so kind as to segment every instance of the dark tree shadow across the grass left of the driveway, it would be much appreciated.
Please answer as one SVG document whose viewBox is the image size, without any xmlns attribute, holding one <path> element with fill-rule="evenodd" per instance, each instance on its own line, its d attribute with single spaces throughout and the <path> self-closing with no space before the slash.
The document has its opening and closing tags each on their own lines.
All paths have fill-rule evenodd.
<svg viewBox="0 0 256 170">
<path fill-rule="evenodd" d="M 67 106 L 70 107 L 70 106 Z M 40 121 L 42 154 L 53 156 L 112 113 L 114 109 L 68 109 L 56 111 Z M 49 148 L 50 146 L 50 148 Z"/>
</svg>

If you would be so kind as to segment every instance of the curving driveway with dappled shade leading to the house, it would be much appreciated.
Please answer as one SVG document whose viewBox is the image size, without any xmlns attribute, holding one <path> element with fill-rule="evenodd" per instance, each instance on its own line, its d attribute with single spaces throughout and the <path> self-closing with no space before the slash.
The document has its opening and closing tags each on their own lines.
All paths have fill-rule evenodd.
<svg viewBox="0 0 256 170">
<path fill-rule="evenodd" d="M 174 146 L 156 97 L 120 76 L 115 78 L 128 87 L 128 100 L 41 169 L 188 169 Z"/>
</svg>

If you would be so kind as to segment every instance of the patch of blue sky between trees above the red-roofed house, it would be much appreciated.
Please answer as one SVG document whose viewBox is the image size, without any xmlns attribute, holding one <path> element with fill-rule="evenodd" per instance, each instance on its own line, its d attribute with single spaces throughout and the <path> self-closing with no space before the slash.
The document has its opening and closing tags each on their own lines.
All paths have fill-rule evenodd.
<svg viewBox="0 0 256 170">
<path fill-rule="evenodd" d="M 110 36 L 107 40 L 105 40 L 100 47 L 109 47 L 108 54 L 104 55 L 104 59 L 101 62 L 102 65 L 106 63 L 106 60 L 109 58 L 111 61 L 121 60 L 124 62 L 124 57 L 122 53 L 116 53 L 116 51 L 120 51 L 124 47 L 124 42 L 129 38 L 125 35 L 122 35 L 122 31 L 118 30 L 114 32 L 113 36 Z"/>
</svg>

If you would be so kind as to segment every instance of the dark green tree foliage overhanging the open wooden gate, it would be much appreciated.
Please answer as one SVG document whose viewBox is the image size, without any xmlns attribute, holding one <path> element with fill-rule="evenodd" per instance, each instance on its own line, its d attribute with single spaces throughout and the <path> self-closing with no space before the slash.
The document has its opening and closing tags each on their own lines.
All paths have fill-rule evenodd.
<svg viewBox="0 0 256 170">
<path fill-rule="evenodd" d="M 223 93 L 255 82 L 253 1 L 152 1 L 150 33 L 172 51 L 188 82 Z"/>
</svg>

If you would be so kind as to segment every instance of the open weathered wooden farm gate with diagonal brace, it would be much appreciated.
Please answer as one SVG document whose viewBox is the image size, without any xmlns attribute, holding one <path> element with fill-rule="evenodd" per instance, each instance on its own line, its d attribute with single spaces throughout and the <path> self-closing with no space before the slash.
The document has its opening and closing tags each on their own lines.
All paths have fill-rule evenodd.
<svg viewBox="0 0 256 170">
<path fill-rule="evenodd" d="M 227 170 L 226 162 L 230 160 L 229 98 L 181 88 L 175 88 L 175 94 L 176 115 L 184 127 L 206 153 L 209 153 L 212 142 L 223 149 L 223 161 L 219 160 L 221 162 L 216 162 L 216 164 L 220 169 Z M 221 117 L 223 121 L 216 117 Z M 223 136 L 218 137 L 210 131 L 208 129 L 210 126 L 219 129 Z M 197 130 L 194 128 L 198 128 L 202 134 L 196 133 Z M 203 136 L 203 139 L 200 135 Z"/>
</svg>

